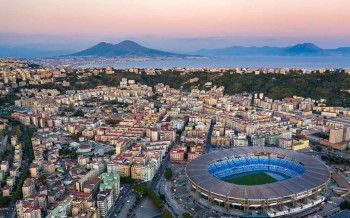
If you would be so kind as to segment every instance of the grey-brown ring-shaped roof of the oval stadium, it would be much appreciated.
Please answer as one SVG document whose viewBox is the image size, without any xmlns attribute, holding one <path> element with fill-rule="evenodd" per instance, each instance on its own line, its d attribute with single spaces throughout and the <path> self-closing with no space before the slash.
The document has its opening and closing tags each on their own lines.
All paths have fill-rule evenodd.
<svg viewBox="0 0 350 218">
<path fill-rule="evenodd" d="M 217 179 L 208 172 L 208 166 L 225 158 L 254 153 L 273 153 L 302 163 L 305 172 L 275 183 L 245 186 L 231 184 Z M 188 178 L 204 190 L 224 197 L 239 199 L 273 199 L 291 196 L 321 186 L 330 179 L 327 166 L 320 160 L 302 153 L 274 147 L 237 147 L 202 155 L 191 161 L 186 167 Z"/>
</svg>

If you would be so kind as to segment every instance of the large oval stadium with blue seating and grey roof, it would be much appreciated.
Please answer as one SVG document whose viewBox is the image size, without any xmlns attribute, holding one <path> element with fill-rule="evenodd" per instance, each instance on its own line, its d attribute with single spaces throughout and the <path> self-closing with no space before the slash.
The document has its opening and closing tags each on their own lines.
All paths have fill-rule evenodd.
<svg viewBox="0 0 350 218">
<path fill-rule="evenodd" d="M 188 163 L 187 187 L 202 206 L 239 217 L 290 217 L 317 209 L 330 172 L 320 160 L 273 147 L 237 147 Z"/>
</svg>

